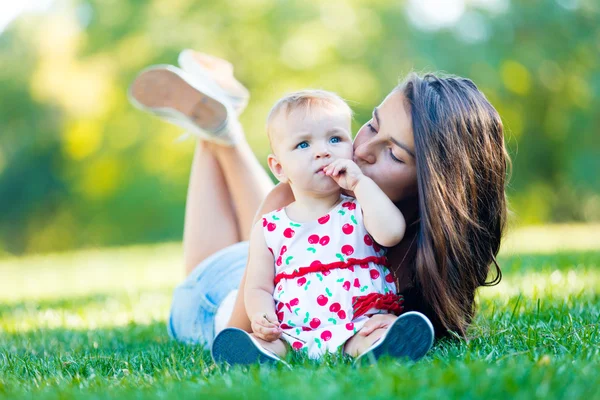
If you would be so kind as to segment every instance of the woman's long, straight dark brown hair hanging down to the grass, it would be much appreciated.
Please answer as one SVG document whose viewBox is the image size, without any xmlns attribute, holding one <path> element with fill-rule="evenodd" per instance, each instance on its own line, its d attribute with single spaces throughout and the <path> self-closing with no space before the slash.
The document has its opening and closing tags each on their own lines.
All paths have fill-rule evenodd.
<svg viewBox="0 0 600 400">
<path fill-rule="evenodd" d="M 448 330 L 466 336 L 475 291 L 502 279 L 510 159 L 498 112 L 459 77 L 411 74 L 397 90 L 412 116 L 419 187 L 416 285 Z M 488 281 L 490 266 L 494 278 Z"/>
</svg>

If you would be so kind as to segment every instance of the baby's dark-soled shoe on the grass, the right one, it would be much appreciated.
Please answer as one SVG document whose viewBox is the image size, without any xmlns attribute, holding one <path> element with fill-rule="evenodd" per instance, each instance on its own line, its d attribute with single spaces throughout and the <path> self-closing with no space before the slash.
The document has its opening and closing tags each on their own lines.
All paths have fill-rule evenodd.
<svg viewBox="0 0 600 400">
<path fill-rule="evenodd" d="M 433 340 L 431 321 L 420 312 L 409 311 L 400 315 L 378 341 L 358 356 L 354 365 L 364 361 L 375 364 L 386 355 L 417 361 L 431 349 Z"/>
</svg>

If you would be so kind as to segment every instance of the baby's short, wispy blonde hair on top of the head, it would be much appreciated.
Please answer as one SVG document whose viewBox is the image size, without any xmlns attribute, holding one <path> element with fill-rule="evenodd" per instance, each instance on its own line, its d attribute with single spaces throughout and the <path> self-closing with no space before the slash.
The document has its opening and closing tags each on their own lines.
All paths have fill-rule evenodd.
<svg viewBox="0 0 600 400">
<path fill-rule="evenodd" d="M 305 89 L 288 93 L 277 100 L 267 116 L 267 135 L 269 141 L 272 140 L 273 121 L 277 116 L 285 113 L 287 117 L 294 110 L 305 110 L 306 114 L 310 114 L 313 107 L 338 109 L 340 113 L 347 114 L 348 118 L 352 118 L 352 109 L 336 93 L 321 89 Z"/>
</svg>

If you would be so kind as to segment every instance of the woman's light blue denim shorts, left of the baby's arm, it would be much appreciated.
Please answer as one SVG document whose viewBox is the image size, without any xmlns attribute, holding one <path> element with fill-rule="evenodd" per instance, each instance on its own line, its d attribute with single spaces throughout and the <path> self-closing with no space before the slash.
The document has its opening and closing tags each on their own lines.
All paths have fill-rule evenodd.
<svg viewBox="0 0 600 400">
<path fill-rule="evenodd" d="M 215 314 L 223 299 L 238 289 L 248 261 L 248 242 L 219 250 L 203 260 L 175 289 L 167 328 L 169 336 L 210 345 Z"/>
</svg>

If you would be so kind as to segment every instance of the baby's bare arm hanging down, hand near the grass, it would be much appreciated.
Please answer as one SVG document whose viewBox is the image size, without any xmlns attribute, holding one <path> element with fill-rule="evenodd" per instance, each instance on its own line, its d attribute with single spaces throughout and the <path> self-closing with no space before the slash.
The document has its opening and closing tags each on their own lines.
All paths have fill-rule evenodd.
<svg viewBox="0 0 600 400">
<path fill-rule="evenodd" d="M 273 300 L 274 265 L 273 255 L 267 248 L 263 227 L 259 222 L 254 225 L 250 234 L 244 302 L 252 324 L 252 331 L 260 339 L 269 342 L 277 340 L 281 336 Z"/>
</svg>

